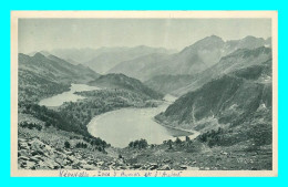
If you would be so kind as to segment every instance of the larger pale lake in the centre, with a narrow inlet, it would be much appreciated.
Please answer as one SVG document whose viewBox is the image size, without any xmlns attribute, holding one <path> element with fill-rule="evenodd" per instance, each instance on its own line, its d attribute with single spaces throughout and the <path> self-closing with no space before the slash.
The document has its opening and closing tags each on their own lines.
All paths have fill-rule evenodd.
<svg viewBox="0 0 288 187">
<path fill-rule="evenodd" d="M 148 108 L 121 108 L 97 115 L 88 125 L 89 133 L 100 137 L 114 147 L 126 147 L 130 142 L 144 138 L 148 144 L 162 144 L 163 141 L 181 136 L 194 138 L 196 134 L 167 128 L 154 121 L 154 116 L 164 112 L 175 101 L 175 97 L 166 95 L 158 107 Z"/>
</svg>

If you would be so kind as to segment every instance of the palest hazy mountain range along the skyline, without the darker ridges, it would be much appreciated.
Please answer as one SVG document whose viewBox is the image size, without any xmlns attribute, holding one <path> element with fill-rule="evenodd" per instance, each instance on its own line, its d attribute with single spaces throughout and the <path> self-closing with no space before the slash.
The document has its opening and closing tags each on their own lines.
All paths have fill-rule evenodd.
<svg viewBox="0 0 288 187">
<path fill-rule="evenodd" d="M 83 64 L 100 74 L 123 73 L 147 81 L 162 74 L 194 75 L 213 66 L 223 56 L 238 49 L 259 46 L 270 48 L 271 38 L 265 40 L 248 35 L 240 40 L 224 41 L 217 35 L 210 35 L 186 46 L 181 52 L 138 45 L 135 48 L 56 49 L 41 51 L 41 53 L 45 56 L 50 54 L 59 56 L 72 64 Z"/>
</svg>

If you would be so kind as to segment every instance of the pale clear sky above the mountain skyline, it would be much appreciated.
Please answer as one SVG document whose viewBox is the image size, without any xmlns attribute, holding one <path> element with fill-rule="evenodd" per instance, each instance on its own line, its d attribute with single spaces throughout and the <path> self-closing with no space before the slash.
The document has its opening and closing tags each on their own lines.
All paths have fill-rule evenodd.
<svg viewBox="0 0 288 187">
<path fill-rule="evenodd" d="M 136 46 L 182 50 L 209 35 L 271 37 L 270 19 L 20 19 L 19 52 Z"/>
</svg>

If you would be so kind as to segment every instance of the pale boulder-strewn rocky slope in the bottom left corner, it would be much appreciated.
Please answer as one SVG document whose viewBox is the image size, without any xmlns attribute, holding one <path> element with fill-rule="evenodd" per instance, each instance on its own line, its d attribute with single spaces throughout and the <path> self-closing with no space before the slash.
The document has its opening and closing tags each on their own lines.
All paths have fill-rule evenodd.
<svg viewBox="0 0 288 187">
<path fill-rule="evenodd" d="M 20 169 L 100 169 L 93 157 L 83 158 L 82 154 L 69 149 L 55 149 L 39 138 L 18 139 L 18 167 Z"/>
</svg>

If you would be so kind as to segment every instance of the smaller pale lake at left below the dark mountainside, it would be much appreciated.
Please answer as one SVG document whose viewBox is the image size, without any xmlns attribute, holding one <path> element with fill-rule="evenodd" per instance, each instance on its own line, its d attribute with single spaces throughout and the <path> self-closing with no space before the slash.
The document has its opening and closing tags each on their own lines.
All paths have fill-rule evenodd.
<svg viewBox="0 0 288 187">
<path fill-rule="evenodd" d="M 94 90 L 101 90 L 101 89 L 96 86 L 90 86 L 86 84 L 71 84 L 70 91 L 41 100 L 39 102 L 39 105 L 61 106 L 64 102 L 76 102 L 78 100 L 85 98 L 84 96 L 74 94 L 75 92 L 94 91 Z"/>
</svg>

